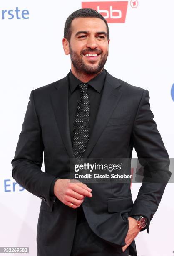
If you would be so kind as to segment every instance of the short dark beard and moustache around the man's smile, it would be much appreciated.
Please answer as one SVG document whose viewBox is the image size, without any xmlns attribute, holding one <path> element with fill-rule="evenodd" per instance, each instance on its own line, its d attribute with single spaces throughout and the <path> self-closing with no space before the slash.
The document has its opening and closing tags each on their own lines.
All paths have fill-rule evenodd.
<svg viewBox="0 0 174 256">
<path fill-rule="evenodd" d="M 92 52 L 94 50 L 91 49 L 89 51 Z M 87 51 L 85 51 L 85 53 L 86 52 Z M 75 51 L 72 51 L 72 48 L 70 46 L 70 58 L 71 58 L 72 64 L 75 67 L 75 71 L 77 74 L 82 74 L 82 73 L 83 74 L 97 74 L 97 73 L 99 73 L 107 61 L 108 52 L 107 52 L 107 54 L 105 54 L 103 56 L 102 56 L 101 52 L 100 52 L 100 54 L 101 54 L 101 59 L 99 61 L 99 64 L 95 67 L 92 67 L 92 66 L 86 65 L 84 63 L 84 61 L 82 60 L 82 58 L 83 58 L 82 52 L 80 52 L 80 56 L 79 56 Z"/>
</svg>

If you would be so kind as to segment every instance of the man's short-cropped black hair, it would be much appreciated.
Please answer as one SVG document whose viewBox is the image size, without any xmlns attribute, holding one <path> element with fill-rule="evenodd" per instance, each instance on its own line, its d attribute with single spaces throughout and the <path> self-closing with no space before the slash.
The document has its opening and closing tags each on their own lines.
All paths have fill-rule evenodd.
<svg viewBox="0 0 174 256">
<path fill-rule="evenodd" d="M 76 10 L 75 12 L 71 13 L 65 22 L 64 37 L 67 39 L 68 42 L 70 42 L 70 38 L 71 38 L 71 34 L 72 34 L 72 29 L 71 29 L 72 20 L 74 20 L 75 18 L 80 18 L 80 17 L 83 17 L 83 18 L 93 17 L 93 18 L 99 18 L 101 20 L 104 20 L 104 22 L 107 26 L 107 40 L 109 40 L 109 27 L 108 27 L 108 24 L 107 24 L 107 21 L 105 20 L 105 18 L 94 9 L 82 8 L 82 9 Z"/>
</svg>

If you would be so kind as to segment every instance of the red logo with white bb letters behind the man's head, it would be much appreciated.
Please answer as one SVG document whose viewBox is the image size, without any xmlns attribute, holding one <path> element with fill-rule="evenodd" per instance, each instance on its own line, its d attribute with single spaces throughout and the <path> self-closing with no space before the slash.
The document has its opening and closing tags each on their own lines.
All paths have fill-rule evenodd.
<svg viewBox="0 0 174 256">
<path fill-rule="evenodd" d="M 97 10 L 107 23 L 125 23 L 128 1 L 82 2 L 82 8 Z"/>
</svg>

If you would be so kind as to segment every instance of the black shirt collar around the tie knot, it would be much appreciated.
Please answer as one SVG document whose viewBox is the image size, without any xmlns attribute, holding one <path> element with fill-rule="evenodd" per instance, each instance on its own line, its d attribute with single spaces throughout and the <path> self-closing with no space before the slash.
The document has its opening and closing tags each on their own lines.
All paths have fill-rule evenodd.
<svg viewBox="0 0 174 256">
<path fill-rule="evenodd" d="M 97 92 L 101 92 L 102 87 L 104 85 L 104 80 L 106 77 L 106 71 L 103 68 L 102 72 L 100 72 L 99 74 L 97 74 L 96 77 L 92 78 L 91 80 L 89 80 L 87 83 L 90 84 Z M 74 92 L 74 90 L 76 89 L 76 87 L 82 83 L 82 81 L 80 81 L 77 77 L 75 77 L 74 74 L 72 74 L 72 71 L 70 70 L 70 74 L 69 74 L 69 86 L 70 86 L 70 91 L 71 93 Z"/>
</svg>

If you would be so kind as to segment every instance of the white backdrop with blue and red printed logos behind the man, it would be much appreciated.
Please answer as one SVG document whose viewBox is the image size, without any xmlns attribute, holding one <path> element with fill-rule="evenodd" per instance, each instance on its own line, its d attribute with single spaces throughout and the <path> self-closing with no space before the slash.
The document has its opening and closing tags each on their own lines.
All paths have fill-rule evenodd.
<svg viewBox="0 0 174 256">
<path fill-rule="evenodd" d="M 174 1 L 0 1 L 0 247 L 29 247 L 37 255 L 41 200 L 11 176 L 11 161 L 32 89 L 70 71 L 62 48 L 66 18 L 93 8 L 109 24 L 105 69 L 114 77 L 149 90 L 154 120 L 174 158 Z M 137 157 L 133 152 L 132 157 Z M 42 166 L 44 171 L 44 164 Z M 38 181 L 39 182 L 39 181 Z M 132 184 L 133 199 L 139 184 Z M 174 184 L 167 184 L 147 230 L 136 238 L 138 256 L 174 256 Z M 59 254 L 57 254 L 59 255 Z"/>
</svg>

